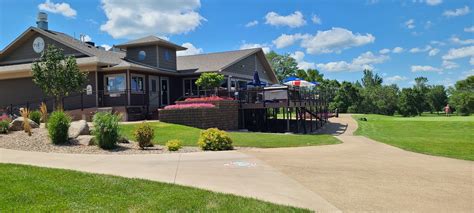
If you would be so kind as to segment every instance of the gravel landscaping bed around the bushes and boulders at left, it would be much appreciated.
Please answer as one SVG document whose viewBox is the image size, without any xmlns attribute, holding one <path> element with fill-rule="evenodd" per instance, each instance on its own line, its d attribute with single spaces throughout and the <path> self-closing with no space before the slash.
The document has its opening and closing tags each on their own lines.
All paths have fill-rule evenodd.
<svg viewBox="0 0 474 213">
<path fill-rule="evenodd" d="M 77 143 L 67 145 L 54 145 L 48 138 L 48 132 L 45 128 L 32 130 L 33 135 L 28 136 L 23 131 L 10 132 L 7 135 L 0 134 L 0 148 L 15 149 L 34 152 L 56 152 L 56 153 L 78 153 L 78 154 L 161 154 L 170 153 L 166 147 L 156 145 L 142 150 L 134 142 L 117 144 L 117 148 L 112 150 L 103 150 L 98 146 L 85 146 Z M 178 153 L 200 152 L 197 147 L 183 147 Z"/>
</svg>

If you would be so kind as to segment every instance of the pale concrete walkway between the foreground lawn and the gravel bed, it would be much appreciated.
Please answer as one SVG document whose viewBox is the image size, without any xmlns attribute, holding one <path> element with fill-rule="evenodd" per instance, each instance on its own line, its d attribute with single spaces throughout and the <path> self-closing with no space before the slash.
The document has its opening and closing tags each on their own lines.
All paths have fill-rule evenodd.
<svg viewBox="0 0 474 213">
<path fill-rule="evenodd" d="M 144 178 L 254 197 L 318 212 L 339 211 L 295 180 L 255 157 L 237 151 L 93 155 L 0 149 L 0 162 Z"/>
</svg>

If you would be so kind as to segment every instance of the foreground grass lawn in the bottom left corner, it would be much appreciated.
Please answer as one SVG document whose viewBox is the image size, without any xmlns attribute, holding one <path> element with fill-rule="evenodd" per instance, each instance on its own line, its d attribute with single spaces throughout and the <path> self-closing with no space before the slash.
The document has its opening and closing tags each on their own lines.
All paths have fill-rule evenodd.
<svg viewBox="0 0 474 213">
<path fill-rule="evenodd" d="M 309 212 L 141 179 L 0 164 L 0 212 Z"/>
</svg>

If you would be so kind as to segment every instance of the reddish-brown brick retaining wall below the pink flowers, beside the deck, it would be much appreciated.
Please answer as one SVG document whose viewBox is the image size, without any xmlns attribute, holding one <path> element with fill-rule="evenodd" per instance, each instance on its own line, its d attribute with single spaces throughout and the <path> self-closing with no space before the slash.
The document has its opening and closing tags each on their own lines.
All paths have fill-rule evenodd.
<svg viewBox="0 0 474 213">
<path fill-rule="evenodd" d="M 239 128 L 239 104 L 237 101 L 197 101 L 185 103 L 211 103 L 215 108 L 188 108 L 188 109 L 160 109 L 160 121 L 182 124 L 200 129 L 219 128 L 222 130 L 236 130 Z"/>
</svg>

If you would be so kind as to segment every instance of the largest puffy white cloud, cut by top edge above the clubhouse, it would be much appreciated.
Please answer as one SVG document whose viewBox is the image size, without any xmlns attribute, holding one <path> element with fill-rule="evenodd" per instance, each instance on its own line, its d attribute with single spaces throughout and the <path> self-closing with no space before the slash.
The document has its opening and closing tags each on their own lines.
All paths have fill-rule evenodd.
<svg viewBox="0 0 474 213">
<path fill-rule="evenodd" d="M 199 0 L 102 0 L 107 22 L 100 26 L 114 38 L 172 35 L 193 31 L 205 21 Z"/>
</svg>

